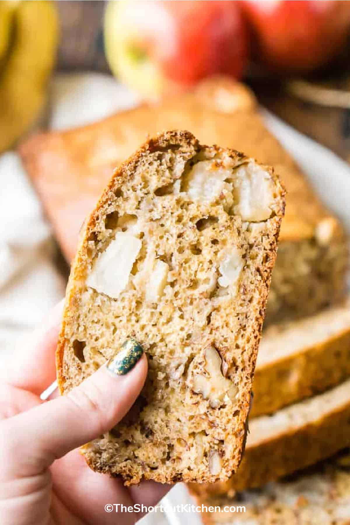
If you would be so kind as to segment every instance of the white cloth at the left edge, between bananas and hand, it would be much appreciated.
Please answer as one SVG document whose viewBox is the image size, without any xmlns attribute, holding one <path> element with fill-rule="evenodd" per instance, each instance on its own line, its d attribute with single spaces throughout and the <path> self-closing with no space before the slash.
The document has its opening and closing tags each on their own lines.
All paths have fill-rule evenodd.
<svg viewBox="0 0 350 525">
<path fill-rule="evenodd" d="M 50 227 L 13 152 L 0 157 L 0 355 L 62 298 Z"/>
</svg>

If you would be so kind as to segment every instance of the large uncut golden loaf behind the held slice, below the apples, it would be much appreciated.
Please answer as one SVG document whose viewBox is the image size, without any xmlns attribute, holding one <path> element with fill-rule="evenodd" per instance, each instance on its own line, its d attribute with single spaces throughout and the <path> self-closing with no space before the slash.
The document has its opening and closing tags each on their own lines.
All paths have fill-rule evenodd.
<svg viewBox="0 0 350 525">
<path fill-rule="evenodd" d="M 281 175 L 287 208 L 266 322 L 309 315 L 342 298 L 348 264 L 342 227 L 266 129 L 252 93 L 231 80 L 205 81 L 196 92 L 155 108 L 142 106 L 80 129 L 40 134 L 22 145 L 24 165 L 69 261 L 83 219 L 111 170 L 147 134 L 165 129 L 189 129 L 202 143 L 243 151 Z"/>
</svg>

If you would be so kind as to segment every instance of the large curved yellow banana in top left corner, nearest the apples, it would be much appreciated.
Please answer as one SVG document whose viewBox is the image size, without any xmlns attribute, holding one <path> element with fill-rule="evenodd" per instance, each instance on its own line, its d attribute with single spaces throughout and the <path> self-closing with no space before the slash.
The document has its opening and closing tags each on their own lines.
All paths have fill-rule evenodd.
<svg viewBox="0 0 350 525">
<path fill-rule="evenodd" d="M 0 67 L 0 151 L 28 129 L 45 102 L 58 42 L 55 5 L 48 0 L 16 2 L 12 25 Z"/>
</svg>

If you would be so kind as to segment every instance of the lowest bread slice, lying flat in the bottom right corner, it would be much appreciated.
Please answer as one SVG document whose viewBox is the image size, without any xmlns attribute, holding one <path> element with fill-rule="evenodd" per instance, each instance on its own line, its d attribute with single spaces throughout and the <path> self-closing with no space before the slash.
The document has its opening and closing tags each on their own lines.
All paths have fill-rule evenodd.
<svg viewBox="0 0 350 525">
<path fill-rule="evenodd" d="M 201 503 L 219 507 L 202 514 L 205 525 L 348 525 L 349 450 L 261 489 L 238 492 L 232 498 L 199 500 L 198 505 Z M 239 512 L 236 506 L 246 511 Z"/>
</svg>

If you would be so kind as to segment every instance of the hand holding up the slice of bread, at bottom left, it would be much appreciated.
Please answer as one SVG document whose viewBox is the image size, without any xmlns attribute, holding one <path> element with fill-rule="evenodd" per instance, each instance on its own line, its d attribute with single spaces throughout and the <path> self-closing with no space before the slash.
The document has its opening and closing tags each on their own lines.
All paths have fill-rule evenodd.
<svg viewBox="0 0 350 525">
<path fill-rule="evenodd" d="M 68 396 L 41 401 L 56 378 L 62 305 L 34 342 L 15 353 L 0 380 L 0 516 L 2 525 L 129 525 L 142 513 L 105 512 L 107 503 L 155 505 L 169 486 L 143 481 L 126 488 L 90 470 L 80 445 L 107 432 L 128 412 L 147 374 L 143 354 L 125 375 L 102 366 Z M 114 507 L 115 509 L 115 507 Z"/>
</svg>

